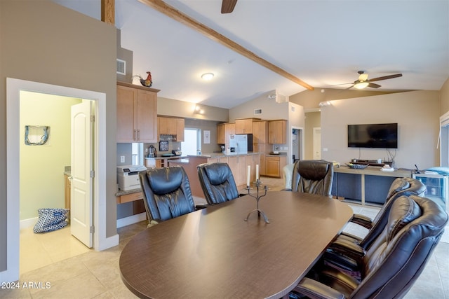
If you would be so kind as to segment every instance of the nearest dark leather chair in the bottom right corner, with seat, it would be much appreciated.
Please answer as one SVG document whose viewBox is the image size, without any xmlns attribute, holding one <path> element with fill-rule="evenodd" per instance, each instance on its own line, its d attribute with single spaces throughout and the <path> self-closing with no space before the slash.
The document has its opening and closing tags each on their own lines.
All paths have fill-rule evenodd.
<svg viewBox="0 0 449 299">
<path fill-rule="evenodd" d="M 319 262 L 294 292 L 309 298 L 402 298 L 420 276 L 443 235 L 448 214 L 415 195 L 394 201 L 388 223 L 355 270 Z"/>
</svg>

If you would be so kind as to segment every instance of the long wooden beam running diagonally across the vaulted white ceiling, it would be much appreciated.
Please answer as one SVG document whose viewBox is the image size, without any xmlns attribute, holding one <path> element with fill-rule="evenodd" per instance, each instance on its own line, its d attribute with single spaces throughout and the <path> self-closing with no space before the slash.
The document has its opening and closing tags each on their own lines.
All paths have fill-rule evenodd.
<svg viewBox="0 0 449 299">
<path fill-rule="evenodd" d="M 250 60 L 253 60 L 257 64 L 262 65 L 262 67 L 266 67 L 267 69 L 274 71 L 276 74 L 288 78 L 289 80 L 301 85 L 304 88 L 307 88 L 308 90 L 314 90 L 314 88 L 311 85 L 305 83 L 300 78 L 297 78 L 296 76 L 293 76 L 287 71 L 284 71 L 280 67 L 272 64 L 271 62 L 264 60 L 262 57 L 256 55 L 255 53 L 244 48 L 243 46 L 240 46 L 238 43 L 228 39 L 226 36 L 216 32 L 215 30 L 207 27 L 206 25 L 203 25 L 202 23 L 194 20 L 193 18 L 190 18 L 188 15 L 178 11 L 173 6 L 169 6 L 162 0 L 139 0 L 139 1 L 151 8 L 154 8 L 156 11 L 163 13 L 164 15 L 167 15 L 173 20 L 176 20 L 177 22 L 180 22 L 188 27 L 191 27 L 192 29 L 195 29 L 201 34 L 207 36 L 209 39 L 217 41 L 217 43 L 221 43 L 223 46 L 227 46 L 231 50 L 234 50 L 236 53 L 239 53 L 249 58 Z"/>
</svg>

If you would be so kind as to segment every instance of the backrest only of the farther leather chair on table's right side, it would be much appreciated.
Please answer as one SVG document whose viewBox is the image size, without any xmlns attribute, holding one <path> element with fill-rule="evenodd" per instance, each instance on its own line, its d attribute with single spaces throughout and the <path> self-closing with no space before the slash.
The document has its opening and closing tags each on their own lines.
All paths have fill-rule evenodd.
<svg viewBox="0 0 449 299">
<path fill-rule="evenodd" d="M 382 206 L 382 209 L 380 209 L 374 218 L 373 226 L 363 238 L 360 246 L 367 250 L 371 244 L 373 244 L 373 241 L 377 238 L 377 236 L 380 235 L 385 225 L 387 225 L 389 211 L 394 200 L 403 195 L 422 196 L 424 195 L 425 190 L 426 186 L 424 186 L 424 184 L 417 179 L 412 179 L 410 177 L 395 179 L 389 188 L 387 200 Z"/>
</svg>

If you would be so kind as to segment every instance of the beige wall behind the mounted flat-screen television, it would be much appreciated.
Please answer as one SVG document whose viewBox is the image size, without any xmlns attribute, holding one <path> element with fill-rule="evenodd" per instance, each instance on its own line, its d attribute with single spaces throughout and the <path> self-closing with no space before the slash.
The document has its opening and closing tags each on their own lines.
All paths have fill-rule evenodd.
<svg viewBox="0 0 449 299">
<path fill-rule="evenodd" d="M 352 158 L 387 158 L 378 148 L 348 148 L 347 125 L 360 123 L 398 123 L 396 167 L 420 169 L 439 165 L 436 149 L 440 101 L 438 91 L 401 92 L 390 95 L 331 101 L 321 109 L 321 157 L 340 163 Z"/>
</svg>

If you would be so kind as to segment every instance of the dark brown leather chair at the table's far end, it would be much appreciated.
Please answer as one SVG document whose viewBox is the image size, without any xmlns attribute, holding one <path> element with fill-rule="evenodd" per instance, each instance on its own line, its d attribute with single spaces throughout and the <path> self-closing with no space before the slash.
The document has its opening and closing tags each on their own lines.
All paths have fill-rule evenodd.
<svg viewBox="0 0 449 299">
<path fill-rule="evenodd" d="M 298 160 L 293 167 L 292 191 L 331 197 L 334 167 L 325 160 Z"/>
</svg>

